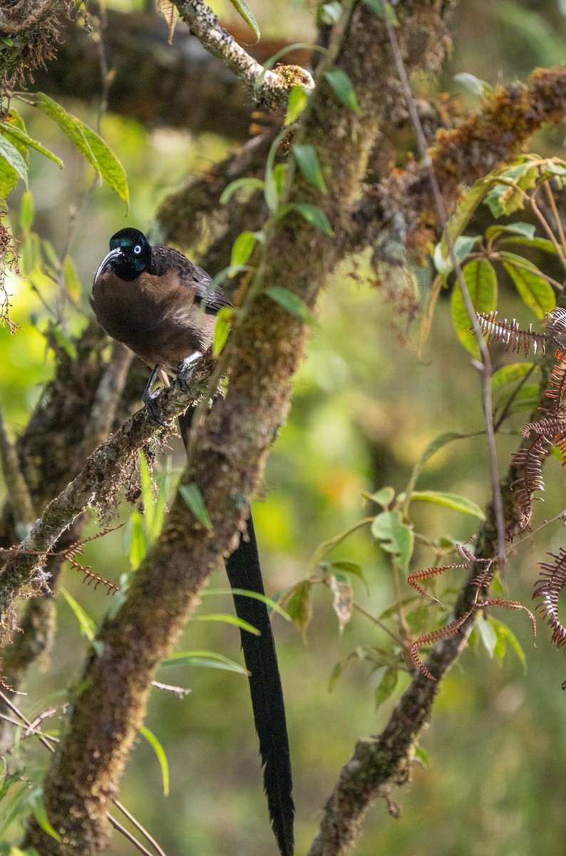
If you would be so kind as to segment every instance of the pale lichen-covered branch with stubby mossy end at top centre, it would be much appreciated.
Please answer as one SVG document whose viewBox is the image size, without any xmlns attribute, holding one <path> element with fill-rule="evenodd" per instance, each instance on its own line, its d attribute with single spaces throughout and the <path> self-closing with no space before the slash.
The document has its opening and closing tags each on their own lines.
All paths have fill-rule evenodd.
<svg viewBox="0 0 566 856">
<path fill-rule="evenodd" d="M 182 21 L 190 27 L 201 45 L 221 59 L 250 92 L 257 104 L 269 109 L 285 110 L 293 86 L 311 91 L 314 81 L 300 66 L 284 66 L 274 72 L 263 68 L 221 27 L 220 21 L 203 0 L 175 0 Z"/>
</svg>

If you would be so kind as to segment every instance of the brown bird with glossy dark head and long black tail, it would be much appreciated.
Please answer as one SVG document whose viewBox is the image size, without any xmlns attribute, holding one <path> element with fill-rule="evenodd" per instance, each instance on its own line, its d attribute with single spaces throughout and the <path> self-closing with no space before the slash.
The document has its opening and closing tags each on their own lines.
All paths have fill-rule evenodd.
<svg viewBox="0 0 566 856">
<path fill-rule="evenodd" d="M 123 342 L 150 366 L 142 400 L 154 423 L 162 423 L 153 391 L 157 377 L 175 377 L 190 391 L 192 369 L 209 350 L 215 315 L 232 303 L 212 277 L 173 247 L 152 247 L 139 229 L 112 235 L 107 253 L 94 276 L 91 307 L 109 336 Z M 213 404 L 214 407 L 214 404 Z M 179 418 L 186 443 L 193 408 Z M 251 515 L 245 536 L 227 558 L 233 590 L 264 595 L 262 571 Z M 262 758 L 268 812 L 281 856 L 292 856 L 294 804 L 286 713 L 274 637 L 266 604 L 233 594 L 236 615 L 260 631 L 240 629 L 251 704 Z"/>
</svg>

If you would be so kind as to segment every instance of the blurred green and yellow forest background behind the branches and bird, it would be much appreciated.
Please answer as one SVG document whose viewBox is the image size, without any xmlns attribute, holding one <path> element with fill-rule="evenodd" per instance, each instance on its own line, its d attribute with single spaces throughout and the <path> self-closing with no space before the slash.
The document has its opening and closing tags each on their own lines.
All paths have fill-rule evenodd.
<svg viewBox="0 0 566 856">
<path fill-rule="evenodd" d="M 109 3 L 122 11 L 135 3 Z M 215 9 L 230 26 L 229 3 Z M 262 34 L 289 41 L 314 38 L 309 5 L 251 3 Z M 182 26 L 182 25 L 180 25 Z M 566 60 L 566 4 L 559 0 L 488 3 L 466 0 L 451 19 L 454 51 L 445 79 L 421 81 L 430 91 L 438 86 L 469 105 L 474 97 L 463 91 L 453 75 L 475 74 L 492 85 L 523 78 L 541 66 Z M 308 35 L 307 35 L 308 34 Z M 64 104 L 85 122 L 95 123 L 97 92 L 91 103 Z M 154 128 L 109 114 L 103 117 L 105 139 L 127 169 L 132 194 L 129 214 L 109 189 L 91 193 L 93 175 L 67 140 L 44 116 L 26 113 L 28 131 L 65 161 L 65 169 L 32 156 L 30 187 L 34 199 L 33 229 L 58 252 L 68 241 L 87 306 L 93 272 L 106 253 L 109 235 L 125 225 L 150 233 L 156 205 L 190 175 L 198 175 L 230 151 L 233 143 L 214 134 L 189 134 L 179 129 Z M 564 128 L 550 128 L 532 142 L 532 151 L 563 157 Z M 17 219 L 18 192 L 10 205 Z M 23 247 L 24 258 L 26 248 Z M 355 274 L 355 276 L 352 276 Z M 392 300 L 387 288 L 375 289 L 367 259 L 345 263 L 329 282 L 321 300 L 318 324 L 310 336 L 307 359 L 295 380 L 292 413 L 269 460 L 262 496 L 253 507 L 257 538 L 268 593 L 292 586 L 308 573 L 310 556 L 321 542 L 333 538 L 367 514 L 362 490 L 392 485 L 404 490 L 411 468 L 427 443 L 442 432 L 481 431 L 481 390 L 469 354 L 451 329 L 450 301 L 440 300 L 423 358 L 416 354 L 416 330 Z M 37 283 L 37 277 L 35 282 Z M 13 276 L 13 317 L 22 329 L 15 336 L 0 331 L 0 395 L 12 437 L 26 424 L 52 373 L 44 328 L 47 313 L 25 278 Z M 47 280 L 41 284 L 46 300 L 54 299 Z M 508 284 L 500 283 L 501 314 L 529 318 Z M 84 318 L 73 313 L 68 333 L 80 330 Z M 497 354 L 498 365 L 510 357 Z M 141 392 L 141 389 L 140 389 Z M 525 413 L 517 413 L 499 437 L 501 473 L 505 472 Z M 174 474 L 183 455 L 173 446 Z M 162 464 L 158 462 L 157 470 Z M 545 502 L 537 503 L 535 524 L 566 508 L 563 470 L 550 461 L 546 470 Z M 481 507 L 489 500 L 489 472 L 483 437 L 446 446 L 427 464 L 421 489 L 461 493 Z M 124 504 L 120 519 L 128 520 Z M 416 529 L 429 538 L 469 538 L 477 520 L 433 506 L 414 507 Z M 92 520 L 89 532 L 99 528 Z M 85 561 L 103 577 L 120 580 L 129 570 L 131 526 L 89 544 Z M 516 555 L 505 571 L 512 599 L 532 605 L 537 562 L 547 550 L 564 544 L 566 533 L 548 526 Z M 352 578 L 355 597 L 370 615 L 380 616 L 393 603 L 395 592 L 386 554 L 374 545 L 368 530 L 341 544 L 334 558 L 357 562 L 362 580 Z M 430 551 L 418 548 L 411 567 L 433 563 Z M 82 585 L 78 572 L 68 570 L 62 584 L 97 620 L 108 607 L 103 591 Z M 454 571 L 435 591 L 451 602 L 462 582 Z M 201 614 L 232 611 L 224 590 L 227 580 L 218 571 L 212 591 L 203 597 Z M 403 597 L 413 594 L 405 587 Z M 57 596 L 58 630 L 49 657 L 29 676 L 21 706 L 38 713 L 62 704 L 69 681 L 76 679 L 86 651 L 76 618 Z M 426 609 L 425 609 L 426 606 Z M 561 853 L 566 836 L 563 811 L 566 792 L 566 663 L 550 645 L 550 633 L 539 622 L 537 647 L 528 617 L 497 615 L 522 645 L 526 669 L 509 651 L 503 660 L 490 657 L 480 634 L 443 682 L 433 720 L 423 736 L 427 764 L 415 764 L 412 782 L 392 794 L 401 807 L 391 817 L 384 801 L 370 811 L 357 843 L 360 856 L 530 856 Z M 418 619 L 432 628 L 443 620 L 422 605 Z M 378 734 L 392 705 L 409 682 L 402 675 L 398 689 L 375 710 L 374 690 L 382 669 L 353 657 L 332 691 L 329 679 L 336 663 L 353 651 L 380 649 L 389 641 L 373 621 L 355 611 L 342 633 L 332 609 L 332 593 L 316 586 L 314 614 L 304 634 L 274 616 L 274 633 L 286 694 L 288 726 L 297 805 L 297 852 L 310 845 L 321 808 L 339 770 L 358 739 Z M 239 633 L 221 622 L 192 621 L 180 651 L 218 651 L 240 660 Z M 268 856 L 274 841 L 268 829 L 262 776 L 253 729 L 247 681 L 219 669 L 187 666 L 162 669 L 158 680 L 190 687 L 184 699 L 155 690 L 146 724 L 160 740 L 170 766 L 170 794 L 164 796 L 156 756 L 139 737 L 127 765 L 121 801 L 144 823 L 164 850 L 199 856 L 232 854 Z M 56 728 L 56 718 L 52 721 Z M 26 775 L 37 775 L 45 764 L 44 749 L 27 740 L 18 763 Z M 2 807 L 0 806 L 0 815 Z M 6 830 L 7 840 L 17 829 Z M 111 853 L 132 853 L 115 835 Z"/>
</svg>

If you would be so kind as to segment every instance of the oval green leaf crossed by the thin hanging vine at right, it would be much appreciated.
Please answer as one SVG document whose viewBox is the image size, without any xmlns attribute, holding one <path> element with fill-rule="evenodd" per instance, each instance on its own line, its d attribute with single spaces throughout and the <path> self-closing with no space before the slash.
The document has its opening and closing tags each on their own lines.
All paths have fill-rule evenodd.
<svg viewBox="0 0 566 856">
<path fill-rule="evenodd" d="M 491 262 L 486 259 L 474 259 L 464 266 L 462 273 L 475 311 L 488 314 L 495 310 L 498 303 L 498 278 Z M 458 282 L 452 290 L 451 313 L 452 324 L 460 342 L 470 354 L 478 357 L 480 347 L 470 331 L 472 319 L 469 317 Z"/>
</svg>

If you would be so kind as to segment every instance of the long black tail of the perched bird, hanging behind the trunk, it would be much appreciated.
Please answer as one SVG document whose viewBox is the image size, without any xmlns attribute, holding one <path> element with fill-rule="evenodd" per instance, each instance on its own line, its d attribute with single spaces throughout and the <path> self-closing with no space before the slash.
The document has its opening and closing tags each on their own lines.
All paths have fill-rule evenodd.
<svg viewBox="0 0 566 856">
<path fill-rule="evenodd" d="M 180 416 L 180 433 L 186 443 L 191 427 L 192 407 Z M 251 516 L 247 532 L 226 563 L 233 589 L 263 594 L 262 572 Z M 262 756 L 263 787 L 268 800 L 269 817 L 281 856 L 293 853 L 293 817 L 291 759 L 283 701 L 283 689 L 277 663 L 274 636 L 268 608 L 255 597 L 234 594 L 236 615 L 259 630 L 256 636 L 240 630 L 246 669 L 250 672 L 251 706 L 259 751 Z"/>
</svg>

